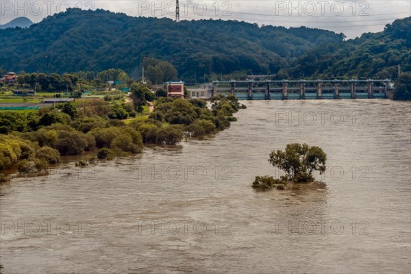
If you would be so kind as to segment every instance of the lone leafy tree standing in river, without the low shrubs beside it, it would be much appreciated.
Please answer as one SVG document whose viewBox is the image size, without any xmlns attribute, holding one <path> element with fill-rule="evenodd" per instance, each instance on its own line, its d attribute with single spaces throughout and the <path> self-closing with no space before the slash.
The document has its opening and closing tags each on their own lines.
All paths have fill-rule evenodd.
<svg viewBox="0 0 411 274">
<path fill-rule="evenodd" d="M 327 155 L 320 147 L 307 144 L 288 144 L 284 151 L 271 151 L 269 162 L 286 173 L 286 179 L 295 182 L 312 182 L 313 171 L 325 171 Z"/>
</svg>

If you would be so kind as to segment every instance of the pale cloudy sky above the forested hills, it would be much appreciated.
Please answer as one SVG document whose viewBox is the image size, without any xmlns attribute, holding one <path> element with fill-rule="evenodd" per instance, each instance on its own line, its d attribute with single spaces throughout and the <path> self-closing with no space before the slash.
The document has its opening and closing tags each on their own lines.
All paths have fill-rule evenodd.
<svg viewBox="0 0 411 274">
<path fill-rule="evenodd" d="M 238 20 L 258 25 L 316 27 L 343 32 L 355 38 L 364 32 L 380 32 L 396 18 L 411 16 L 411 0 L 369 1 L 250 1 L 179 0 L 180 21 L 192 19 Z M 0 24 L 27 16 L 38 23 L 66 8 L 102 8 L 130 16 L 175 18 L 175 1 L 3 1 Z"/>
</svg>

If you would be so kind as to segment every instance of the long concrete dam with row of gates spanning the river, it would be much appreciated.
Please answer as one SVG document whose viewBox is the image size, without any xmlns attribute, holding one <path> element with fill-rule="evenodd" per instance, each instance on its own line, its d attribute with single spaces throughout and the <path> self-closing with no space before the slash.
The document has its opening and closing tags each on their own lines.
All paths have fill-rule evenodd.
<svg viewBox="0 0 411 274">
<path fill-rule="evenodd" d="M 389 79 L 214 81 L 202 88 L 188 88 L 192 98 L 210 99 L 223 94 L 240 100 L 287 99 L 387 99 L 393 95 Z"/>
</svg>

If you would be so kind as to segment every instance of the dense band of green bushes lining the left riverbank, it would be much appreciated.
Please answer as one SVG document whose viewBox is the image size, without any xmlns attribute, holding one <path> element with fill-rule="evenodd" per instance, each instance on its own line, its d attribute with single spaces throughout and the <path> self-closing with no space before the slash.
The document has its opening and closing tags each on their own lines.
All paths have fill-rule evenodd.
<svg viewBox="0 0 411 274">
<path fill-rule="evenodd" d="M 27 114 L 0 112 L 0 171 L 36 173 L 60 162 L 62 155 L 90 151 L 112 160 L 141 153 L 145 144 L 176 145 L 226 129 L 244 108 L 232 95 L 214 98 L 210 107 L 199 99 L 160 98 L 147 119 L 126 125 L 123 114 L 147 99 L 147 90 L 136 90 L 143 92 L 130 103 L 67 102 Z"/>
</svg>

